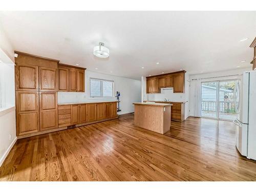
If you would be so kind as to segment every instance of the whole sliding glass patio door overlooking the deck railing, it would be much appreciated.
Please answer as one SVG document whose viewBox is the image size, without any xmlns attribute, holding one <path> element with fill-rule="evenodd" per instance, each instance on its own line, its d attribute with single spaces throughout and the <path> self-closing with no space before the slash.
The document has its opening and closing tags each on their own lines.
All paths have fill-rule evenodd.
<svg viewBox="0 0 256 192">
<path fill-rule="evenodd" d="M 236 119 L 234 90 L 237 81 L 234 79 L 201 83 L 202 117 L 222 120 Z"/>
</svg>

